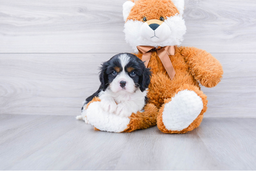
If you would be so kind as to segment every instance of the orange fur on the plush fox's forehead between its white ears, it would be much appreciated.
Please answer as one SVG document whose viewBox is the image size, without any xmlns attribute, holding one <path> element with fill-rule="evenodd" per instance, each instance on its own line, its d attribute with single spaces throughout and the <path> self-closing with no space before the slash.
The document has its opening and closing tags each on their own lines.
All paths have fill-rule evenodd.
<svg viewBox="0 0 256 171">
<path fill-rule="evenodd" d="M 143 17 L 150 19 L 159 19 L 161 16 L 170 17 L 179 13 L 174 3 L 171 0 L 143 0 L 135 1 L 127 20 L 142 21 Z M 126 21 L 127 21 L 126 20 Z"/>
</svg>

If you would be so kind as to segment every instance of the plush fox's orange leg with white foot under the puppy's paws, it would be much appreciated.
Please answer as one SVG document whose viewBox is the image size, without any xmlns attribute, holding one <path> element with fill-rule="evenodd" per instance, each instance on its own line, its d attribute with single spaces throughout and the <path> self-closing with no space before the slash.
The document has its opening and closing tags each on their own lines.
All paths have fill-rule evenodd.
<svg viewBox="0 0 256 171">
<path fill-rule="evenodd" d="M 132 113 L 129 118 L 120 117 L 115 114 L 105 112 L 101 109 L 100 99 L 94 97 L 87 104 L 87 119 L 94 126 L 94 130 L 108 132 L 132 132 L 137 129 L 146 129 L 156 125 L 158 109 L 153 104 L 146 104 L 144 111 Z"/>
</svg>

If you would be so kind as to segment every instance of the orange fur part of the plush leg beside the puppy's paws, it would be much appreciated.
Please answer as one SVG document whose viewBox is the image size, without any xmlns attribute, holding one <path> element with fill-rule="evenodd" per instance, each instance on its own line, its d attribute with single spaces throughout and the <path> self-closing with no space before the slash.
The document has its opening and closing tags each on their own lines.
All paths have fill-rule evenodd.
<svg viewBox="0 0 256 171">
<path fill-rule="evenodd" d="M 143 112 L 132 113 L 128 128 L 124 132 L 132 132 L 137 129 L 146 129 L 156 125 L 158 109 L 153 104 L 146 104 Z"/>
</svg>

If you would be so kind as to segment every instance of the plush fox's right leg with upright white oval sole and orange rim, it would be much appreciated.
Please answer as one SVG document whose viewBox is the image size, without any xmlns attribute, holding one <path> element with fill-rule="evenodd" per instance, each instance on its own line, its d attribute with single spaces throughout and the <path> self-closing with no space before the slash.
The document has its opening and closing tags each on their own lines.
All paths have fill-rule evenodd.
<svg viewBox="0 0 256 171">
<path fill-rule="evenodd" d="M 184 85 L 165 99 L 159 109 L 157 127 L 164 133 L 186 133 L 197 128 L 207 107 L 206 95 L 198 87 Z"/>
</svg>

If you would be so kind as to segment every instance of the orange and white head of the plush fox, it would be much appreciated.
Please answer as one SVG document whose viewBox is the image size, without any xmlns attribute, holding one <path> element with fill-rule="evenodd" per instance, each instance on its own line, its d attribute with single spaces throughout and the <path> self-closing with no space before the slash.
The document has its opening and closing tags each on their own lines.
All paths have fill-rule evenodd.
<svg viewBox="0 0 256 171">
<path fill-rule="evenodd" d="M 125 39 L 137 46 L 180 45 L 186 32 L 184 0 L 138 0 L 123 5 Z"/>
</svg>

